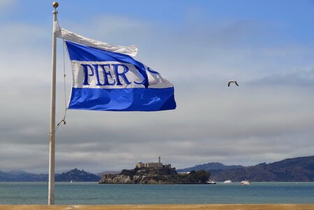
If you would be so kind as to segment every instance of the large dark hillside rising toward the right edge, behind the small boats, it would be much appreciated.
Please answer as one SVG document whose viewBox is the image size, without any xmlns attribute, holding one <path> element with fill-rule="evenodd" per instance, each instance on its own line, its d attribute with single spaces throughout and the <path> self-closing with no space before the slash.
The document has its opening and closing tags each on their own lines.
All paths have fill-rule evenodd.
<svg viewBox="0 0 314 210">
<path fill-rule="evenodd" d="M 228 170 L 212 170 L 210 179 L 224 181 L 314 181 L 314 156 L 289 158 L 270 164 Z"/>
</svg>

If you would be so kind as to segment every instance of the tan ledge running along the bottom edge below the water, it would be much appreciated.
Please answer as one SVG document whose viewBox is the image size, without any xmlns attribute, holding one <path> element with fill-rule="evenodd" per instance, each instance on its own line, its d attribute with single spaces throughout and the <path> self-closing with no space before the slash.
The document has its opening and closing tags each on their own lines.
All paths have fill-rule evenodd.
<svg viewBox="0 0 314 210">
<path fill-rule="evenodd" d="M 269 209 L 313 209 L 314 204 L 192 204 L 192 205 L 0 205 L 0 210 L 43 210 L 43 209 L 55 209 L 55 210 L 69 210 L 69 209 L 80 209 L 80 210 L 164 210 L 164 209 L 192 209 L 192 210 L 204 210 L 204 209 L 224 209 L 224 210 L 269 210 Z"/>
</svg>

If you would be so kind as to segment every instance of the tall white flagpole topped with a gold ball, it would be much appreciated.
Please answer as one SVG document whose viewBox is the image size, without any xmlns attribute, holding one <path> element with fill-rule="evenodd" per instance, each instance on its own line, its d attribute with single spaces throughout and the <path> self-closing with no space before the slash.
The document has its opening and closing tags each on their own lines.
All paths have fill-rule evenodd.
<svg viewBox="0 0 314 210">
<path fill-rule="evenodd" d="M 52 3 L 53 23 L 57 21 L 57 10 L 59 3 Z M 55 204 L 55 110 L 56 110 L 56 50 L 57 34 L 52 33 L 52 67 L 51 67 L 51 98 L 50 98 L 50 144 L 49 144 L 49 183 L 48 183 L 48 205 Z"/>
</svg>

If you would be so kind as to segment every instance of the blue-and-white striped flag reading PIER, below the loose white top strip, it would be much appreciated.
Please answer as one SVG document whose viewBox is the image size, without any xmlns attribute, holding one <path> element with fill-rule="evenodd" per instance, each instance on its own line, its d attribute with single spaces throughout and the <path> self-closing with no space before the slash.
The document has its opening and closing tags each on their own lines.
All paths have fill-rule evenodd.
<svg viewBox="0 0 314 210">
<path fill-rule="evenodd" d="M 129 55 L 66 41 L 73 83 L 69 109 L 176 109 L 173 85 Z"/>
</svg>

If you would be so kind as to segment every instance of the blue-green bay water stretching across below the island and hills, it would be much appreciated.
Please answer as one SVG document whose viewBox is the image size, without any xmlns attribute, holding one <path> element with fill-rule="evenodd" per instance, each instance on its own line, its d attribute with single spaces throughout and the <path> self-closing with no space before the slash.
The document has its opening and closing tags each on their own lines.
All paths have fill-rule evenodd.
<svg viewBox="0 0 314 210">
<path fill-rule="evenodd" d="M 48 184 L 0 182 L 0 204 L 47 204 Z M 314 183 L 110 185 L 56 183 L 55 204 L 313 204 Z"/>
</svg>

